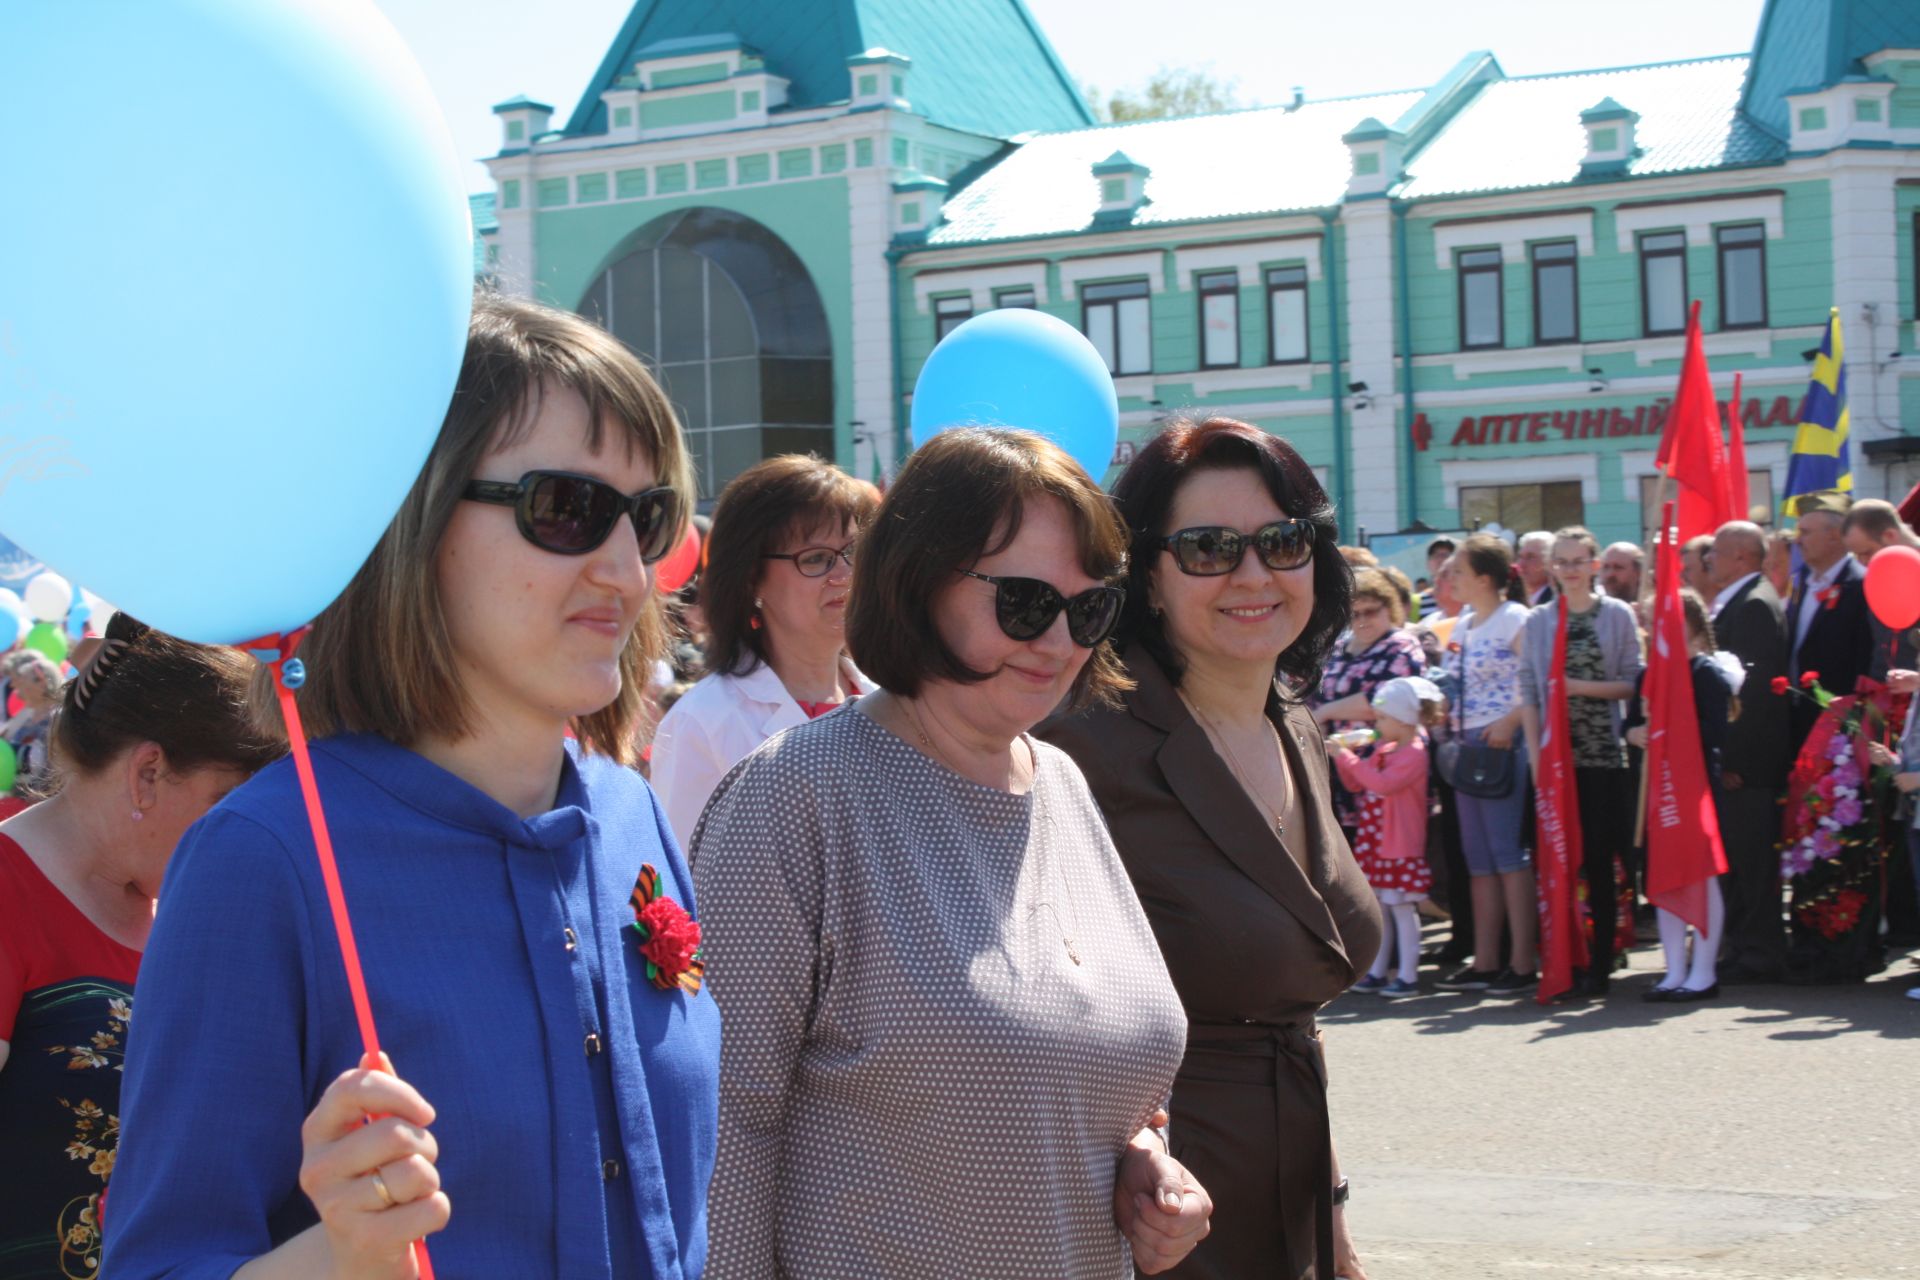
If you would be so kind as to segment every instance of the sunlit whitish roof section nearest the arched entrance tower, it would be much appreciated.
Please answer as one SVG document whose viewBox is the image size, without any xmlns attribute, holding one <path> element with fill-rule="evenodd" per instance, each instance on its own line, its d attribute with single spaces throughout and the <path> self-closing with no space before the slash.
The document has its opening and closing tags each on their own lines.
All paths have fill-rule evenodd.
<svg viewBox="0 0 1920 1280">
<path fill-rule="evenodd" d="M 1152 169 L 1150 203 L 1133 226 L 1336 205 L 1348 180 L 1340 134 L 1369 115 L 1396 119 L 1421 98 L 1411 90 L 1041 134 L 950 196 L 927 244 L 1089 230 L 1100 207 L 1092 165 L 1116 150 Z"/>
</svg>

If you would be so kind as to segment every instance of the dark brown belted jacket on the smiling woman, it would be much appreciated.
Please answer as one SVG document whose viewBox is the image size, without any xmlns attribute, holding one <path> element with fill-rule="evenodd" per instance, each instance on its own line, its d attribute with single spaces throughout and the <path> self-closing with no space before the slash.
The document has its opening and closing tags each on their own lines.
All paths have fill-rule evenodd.
<svg viewBox="0 0 1920 1280">
<path fill-rule="evenodd" d="M 1332 1280 L 1332 1155 L 1313 1013 L 1367 971 L 1380 908 L 1332 816 L 1313 716 L 1267 716 L 1298 796 L 1286 842 L 1140 649 L 1123 706 L 1037 733 L 1087 775 L 1190 1021 L 1173 1153 L 1213 1196 L 1213 1234 L 1175 1276 Z"/>
</svg>

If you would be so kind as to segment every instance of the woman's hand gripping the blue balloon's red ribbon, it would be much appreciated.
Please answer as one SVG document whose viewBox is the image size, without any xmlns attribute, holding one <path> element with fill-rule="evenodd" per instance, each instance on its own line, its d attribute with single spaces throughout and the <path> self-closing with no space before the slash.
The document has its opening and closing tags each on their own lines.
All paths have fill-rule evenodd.
<svg viewBox="0 0 1920 1280">
<path fill-rule="evenodd" d="M 382 1119 L 369 1125 L 369 1115 Z M 453 1211 L 434 1169 L 432 1123 L 434 1109 L 382 1055 L 328 1084 L 301 1125 L 300 1190 L 321 1215 L 336 1276 L 417 1274 L 413 1242 L 444 1228 Z"/>
</svg>

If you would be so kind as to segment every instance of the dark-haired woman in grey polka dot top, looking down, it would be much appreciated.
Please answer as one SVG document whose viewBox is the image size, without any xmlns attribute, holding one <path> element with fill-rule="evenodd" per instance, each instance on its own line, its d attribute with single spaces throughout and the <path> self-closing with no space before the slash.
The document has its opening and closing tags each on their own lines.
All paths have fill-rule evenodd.
<svg viewBox="0 0 1920 1280">
<path fill-rule="evenodd" d="M 707 1280 L 1125 1280 L 1212 1201 L 1165 1146 L 1187 1017 L 1087 779 L 1125 533 L 1025 432 L 937 436 L 854 558 L 879 685 L 693 833 L 726 1025 Z"/>
</svg>

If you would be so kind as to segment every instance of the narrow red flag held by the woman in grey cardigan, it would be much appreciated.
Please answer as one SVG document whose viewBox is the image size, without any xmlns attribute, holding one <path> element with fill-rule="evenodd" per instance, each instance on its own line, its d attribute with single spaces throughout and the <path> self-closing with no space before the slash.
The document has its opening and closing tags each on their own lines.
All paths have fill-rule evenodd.
<svg viewBox="0 0 1920 1280">
<path fill-rule="evenodd" d="M 1572 725 L 1567 716 L 1567 597 L 1553 606 L 1553 668 L 1540 733 L 1540 777 L 1534 779 L 1540 871 L 1540 992 L 1548 1004 L 1572 988 L 1574 965 L 1586 967 L 1586 933 L 1574 904 L 1580 865 L 1580 794 L 1572 783 Z M 1594 919 L 1611 904 L 1594 904 Z M 1599 925 L 1603 927 L 1603 925 Z"/>
</svg>

